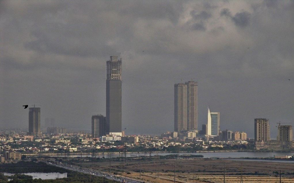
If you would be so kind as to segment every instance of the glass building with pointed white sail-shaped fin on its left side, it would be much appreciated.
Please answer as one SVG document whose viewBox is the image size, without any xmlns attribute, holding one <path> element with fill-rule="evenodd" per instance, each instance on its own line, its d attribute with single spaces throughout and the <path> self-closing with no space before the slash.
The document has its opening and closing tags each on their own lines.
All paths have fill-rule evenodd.
<svg viewBox="0 0 294 183">
<path fill-rule="evenodd" d="M 220 131 L 220 113 L 210 112 L 208 108 L 207 135 L 218 135 Z"/>
</svg>

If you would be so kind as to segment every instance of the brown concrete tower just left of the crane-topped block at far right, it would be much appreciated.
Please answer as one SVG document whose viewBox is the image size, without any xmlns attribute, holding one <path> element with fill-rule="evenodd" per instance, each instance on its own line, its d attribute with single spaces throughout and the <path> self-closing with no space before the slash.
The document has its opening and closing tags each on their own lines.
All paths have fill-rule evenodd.
<svg viewBox="0 0 294 183">
<path fill-rule="evenodd" d="M 254 140 L 255 142 L 270 141 L 270 124 L 268 119 L 254 119 Z"/>
</svg>

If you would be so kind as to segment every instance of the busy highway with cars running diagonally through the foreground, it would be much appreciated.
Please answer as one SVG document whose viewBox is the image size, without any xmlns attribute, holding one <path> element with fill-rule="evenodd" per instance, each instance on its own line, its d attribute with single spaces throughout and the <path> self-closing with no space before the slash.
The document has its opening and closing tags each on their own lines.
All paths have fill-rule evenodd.
<svg viewBox="0 0 294 183">
<path fill-rule="evenodd" d="M 72 170 L 72 171 L 81 172 L 81 173 L 85 173 L 85 174 L 91 174 L 91 175 L 95 175 L 95 176 L 99 176 L 99 177 L 105 177 L 106 179 L 114 180 L 117 182 L 151 183 L 148 181 L 128 178 L 128 177 L 124 177 L 121 175 L 109 174 L 107 172 L 94 170 L 94 169 L 90 169 L 90 168 L 83 168 L 83 167 L 79 167 L 79 166 L 75 166 L 75 165 L 64 165 L 64 164 L 57 165 L 57 164 L 53 164 L 53 163 L 52 164 L 47 163 L 47 164 L 54 165 L 56 167 L 61 167 L 61 168 L 67 169 L 67 170 Z"/>
</svg>

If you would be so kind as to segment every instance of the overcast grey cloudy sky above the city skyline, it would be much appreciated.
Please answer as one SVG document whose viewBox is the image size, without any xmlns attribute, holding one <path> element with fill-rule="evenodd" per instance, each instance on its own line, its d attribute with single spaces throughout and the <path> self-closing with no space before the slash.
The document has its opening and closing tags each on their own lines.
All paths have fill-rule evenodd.
<svg viewBox="0 0 294 183">
<path fill-rule="evenodd" d="M 173 85 L 198 82 L 221 130 L 294 122 L 294 1 L 0 1 L 0 125 L 91 129 L 105 115 L 106 60 L 123 60 L 127 134 L 173 130 Z M 143 52 L 144 51 L 144 52 Z M 288 80 L 290 79 L 290 80 Z"/>
</svg>

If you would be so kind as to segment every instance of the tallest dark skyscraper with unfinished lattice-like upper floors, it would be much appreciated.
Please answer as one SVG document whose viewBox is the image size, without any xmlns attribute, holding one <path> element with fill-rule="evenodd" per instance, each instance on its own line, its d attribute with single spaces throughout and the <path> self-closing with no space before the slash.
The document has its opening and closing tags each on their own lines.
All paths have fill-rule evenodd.
<svg viewBox="0 0 294 183">
<path fill-rule="evenodd" d="M 106 62 L 106 133 L 121 133 L 121 58 Z"/>
</svg>

